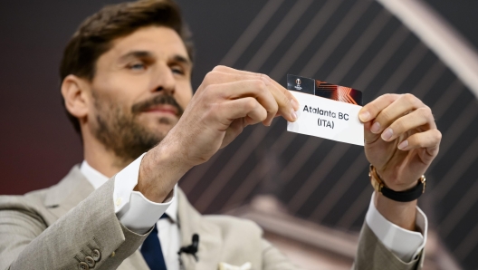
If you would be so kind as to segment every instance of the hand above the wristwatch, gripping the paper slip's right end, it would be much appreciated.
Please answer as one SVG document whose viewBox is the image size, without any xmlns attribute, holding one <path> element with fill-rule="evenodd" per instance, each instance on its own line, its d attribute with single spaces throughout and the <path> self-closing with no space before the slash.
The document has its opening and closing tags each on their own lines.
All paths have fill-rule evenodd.
<svg viewBox="0 0 478 270">
<path fill-rule="evenodd" d="M 414 188 L 438 154 L 442 133 L 432 111 L 412 94 L 385 94 L 359 112 L 365 155 L 388 188 Z"/>
</svg>

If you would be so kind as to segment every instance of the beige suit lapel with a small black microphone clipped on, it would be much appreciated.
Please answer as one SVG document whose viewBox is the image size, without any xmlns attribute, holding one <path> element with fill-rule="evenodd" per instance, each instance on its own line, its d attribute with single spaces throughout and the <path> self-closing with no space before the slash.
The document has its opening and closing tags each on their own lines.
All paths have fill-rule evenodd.
<svg viewBox="0 0 478 270">
<path fill-rule="evenodd" d="M 192 236 L 199 235 L 198 261 L 188 254 L 182 254 L 181 259 L 186 270 L 217 269 L 221 256 L 223 237 L 221 230 L 215 224 L 208 222 L 187 201 L 181 189 L 177 192 L 177 214 L 179 231 L 181 232 L 181 246 L 191 245 Z"/>
</svg>

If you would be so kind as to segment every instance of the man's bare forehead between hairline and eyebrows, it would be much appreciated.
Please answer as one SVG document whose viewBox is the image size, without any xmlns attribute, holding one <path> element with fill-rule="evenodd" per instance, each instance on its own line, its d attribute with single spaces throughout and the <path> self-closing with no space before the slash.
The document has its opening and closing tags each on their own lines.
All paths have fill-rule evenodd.
<svg viewBox="0 0 478 270">
<path fill-rule="evenodd" d="M 112 42 L 111 49 L 106 54 L 120 57 L 131 51 L 148 51 L 166 58 L 176 54 L 189 59 L 181 37 L 173 29 L 164 26 L 143 27 L 132 34 L 120 37 Z"/>
</svg>

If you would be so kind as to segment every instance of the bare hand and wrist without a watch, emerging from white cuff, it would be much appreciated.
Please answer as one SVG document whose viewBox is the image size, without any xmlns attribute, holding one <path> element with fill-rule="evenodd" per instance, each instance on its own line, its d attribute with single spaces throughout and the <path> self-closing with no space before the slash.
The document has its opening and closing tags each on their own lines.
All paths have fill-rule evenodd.
<svg viewBox="0 0 478 270">
<path fill-rule="evenodd" d="M 176 126 L 141 162 L 139 190 L 164 201 L 187 170 L 206 162 L 247 125 L 295 121 L 299 102 L 266 75 L 217 66 L 207 73 Z"/>
</svg>

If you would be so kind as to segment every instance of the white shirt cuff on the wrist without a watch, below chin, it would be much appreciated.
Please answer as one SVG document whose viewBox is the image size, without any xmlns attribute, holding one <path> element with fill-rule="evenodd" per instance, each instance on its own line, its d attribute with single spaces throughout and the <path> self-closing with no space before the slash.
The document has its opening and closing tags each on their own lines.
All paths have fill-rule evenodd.
<svg viewBox="0 0 478 270">
<path fill-rule="evenodd" d="M 172 202 L 171 198 L 165 203 L 152 202 L 144 197 L 141 192 L 133 191 L 138 184 L 139 166 L 144 155 L 119 171 L 115 177 L 113 192 L 116 217 L 124 227 L 138 234 L 148 232 Z M 176 194 L 176 192 L 173 194 Z"/>
</svg>

